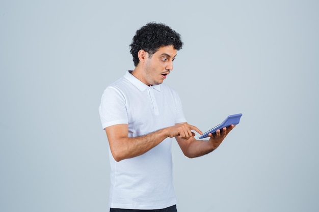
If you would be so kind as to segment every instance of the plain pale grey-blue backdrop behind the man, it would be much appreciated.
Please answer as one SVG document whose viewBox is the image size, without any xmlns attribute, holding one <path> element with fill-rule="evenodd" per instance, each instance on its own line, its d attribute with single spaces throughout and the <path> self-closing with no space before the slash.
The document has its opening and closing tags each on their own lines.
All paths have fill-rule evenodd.
<svg viewBox="0 0 319 212">
<path fill-rule="evenodd" d="M 318 1 L 1 1 L 0 211 L 108 211 L 103 90 L 133 69 L 136 30 L 184 47 L 166 83 L 212 154 L 173 144 L 180 212 L 318 211 Z"/>
</svg>

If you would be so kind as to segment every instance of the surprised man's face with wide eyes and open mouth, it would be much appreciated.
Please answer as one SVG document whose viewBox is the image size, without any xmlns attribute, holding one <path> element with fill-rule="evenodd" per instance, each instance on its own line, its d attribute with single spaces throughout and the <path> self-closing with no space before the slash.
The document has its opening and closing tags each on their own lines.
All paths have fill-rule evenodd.
<svg viewBox="0 0 319 212">
<path fill-rule="evenodd" d="M 170 71 L 173 70 L 176 52 L 176 49 L 170 45 L 159 47 L 151 57 L 147 53 L 143 72 L 144 83 L 147 85 L 162 84 Z"/>
</svg>

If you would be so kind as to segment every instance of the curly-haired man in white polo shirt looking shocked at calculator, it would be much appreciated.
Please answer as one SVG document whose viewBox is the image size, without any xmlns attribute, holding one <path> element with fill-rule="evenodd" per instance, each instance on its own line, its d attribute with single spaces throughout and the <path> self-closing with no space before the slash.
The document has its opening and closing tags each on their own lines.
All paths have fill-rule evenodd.
<svg viewBox="0 0 319 212">
<path fill-rule="evenodd" d="M 180 35 L 169 26 L 147 23 L 130 44 L 135 69 L 108 86 L 99 108 L 110 145 L 110 211 L 177 211 L 172 185 L 171 143 L 199 157 L 216 149 L 234 128 L 196 140 L 176 91 L 163 83 L 173 70 Z"/>
</svg>

